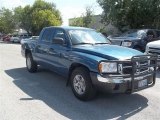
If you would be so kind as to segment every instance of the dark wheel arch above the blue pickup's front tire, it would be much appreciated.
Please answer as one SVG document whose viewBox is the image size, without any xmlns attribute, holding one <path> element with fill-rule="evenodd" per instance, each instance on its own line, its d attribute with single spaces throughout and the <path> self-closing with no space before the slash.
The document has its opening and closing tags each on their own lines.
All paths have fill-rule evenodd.
<svg viewBox="0 0 160 120">
<path fill-rule="evenodd" d="M 72 74 L 72 71 L 75 70 L 76 68 L 78 67 L 83 67 L 83 68 L 86 68 L 88 71 L 89 71 L 89 68 L 83 64 L 80 64 L 80 63 L 73 63 L 70 68 L 69 68 L 69 73 L 68 73 L 68 79 L 67 79 L 67 85 L 69 84 L 69 80 L 70 80 L 70 77 L 71 77 L 71 74 Z"/>
</svg>

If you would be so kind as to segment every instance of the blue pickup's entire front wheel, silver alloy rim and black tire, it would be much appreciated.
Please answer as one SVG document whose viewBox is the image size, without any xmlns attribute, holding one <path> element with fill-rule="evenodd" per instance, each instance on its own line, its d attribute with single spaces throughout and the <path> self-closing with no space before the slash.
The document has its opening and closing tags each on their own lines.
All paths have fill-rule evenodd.
<svg viewBox="0 0 160 120">
<path fill-rule="evenodd" d="M 89 71 L 83 67 L 76 68 L 72 72 L 71 87 L 74 95 L 83 101 L 91 100 L 96 95 Z"/>
</svg>

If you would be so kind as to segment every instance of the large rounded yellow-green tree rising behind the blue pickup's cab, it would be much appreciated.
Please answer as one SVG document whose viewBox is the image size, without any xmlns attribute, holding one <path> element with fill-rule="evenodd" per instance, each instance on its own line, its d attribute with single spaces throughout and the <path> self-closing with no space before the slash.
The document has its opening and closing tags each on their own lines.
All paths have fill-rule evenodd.
<svg viewBox="0 0 160 120">
<path fill-rule="evenodd" d="M 36 0 L 32 6 L 15 8 L 14 17 L 20 28 L 36 35 L 39 35 L 43 27 L 62 24 L 60 12 L 55 4 L 44 0 Z"/>
</svg>

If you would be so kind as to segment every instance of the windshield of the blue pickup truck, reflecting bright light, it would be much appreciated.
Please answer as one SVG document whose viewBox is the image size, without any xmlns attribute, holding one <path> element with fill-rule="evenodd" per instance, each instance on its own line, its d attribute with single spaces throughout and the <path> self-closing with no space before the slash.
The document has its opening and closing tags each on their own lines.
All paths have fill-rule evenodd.
<svg viewBox="0 0 160 120">
<path fill-rule="evenodd" d="M 73 45 L 110 44 L 106 37 L 94 30 L 69 30 L 69 35 Z"/>
</svg>

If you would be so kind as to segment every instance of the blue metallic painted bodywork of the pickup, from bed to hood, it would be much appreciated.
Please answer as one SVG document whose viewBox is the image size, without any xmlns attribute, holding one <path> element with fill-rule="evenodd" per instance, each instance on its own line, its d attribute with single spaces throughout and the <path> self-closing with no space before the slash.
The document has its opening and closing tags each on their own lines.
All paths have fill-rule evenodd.
<svg viewBox="0 0 160 120">
<path fill-rule="evenodd" d="M 42 45 L 41 37 L 44 30 L 42 30 L 37 42 L 25 43 L 24 46 L 26 48 L 22 49 L 22 53 L 26 49 L 32 49 L 33 59 L 38 64 L 44 65 L 63 76 L 68 76 L 69 68 L 74 63 L 82 64 L 90 71 L 98 73 L 97 67 L 101 60 L 124 60 L 130 59 L 132 56 L 143 55 L 137 50 L 109 44 L 71 46 L 67 33 L 68 44 L 66 46 L 53 45 L 51 43 Z M 39 46 L 44 47 L 39 48 Z M 50 51 L 51 48 L 54 49 L 55 53 Z"/>
</svg>

